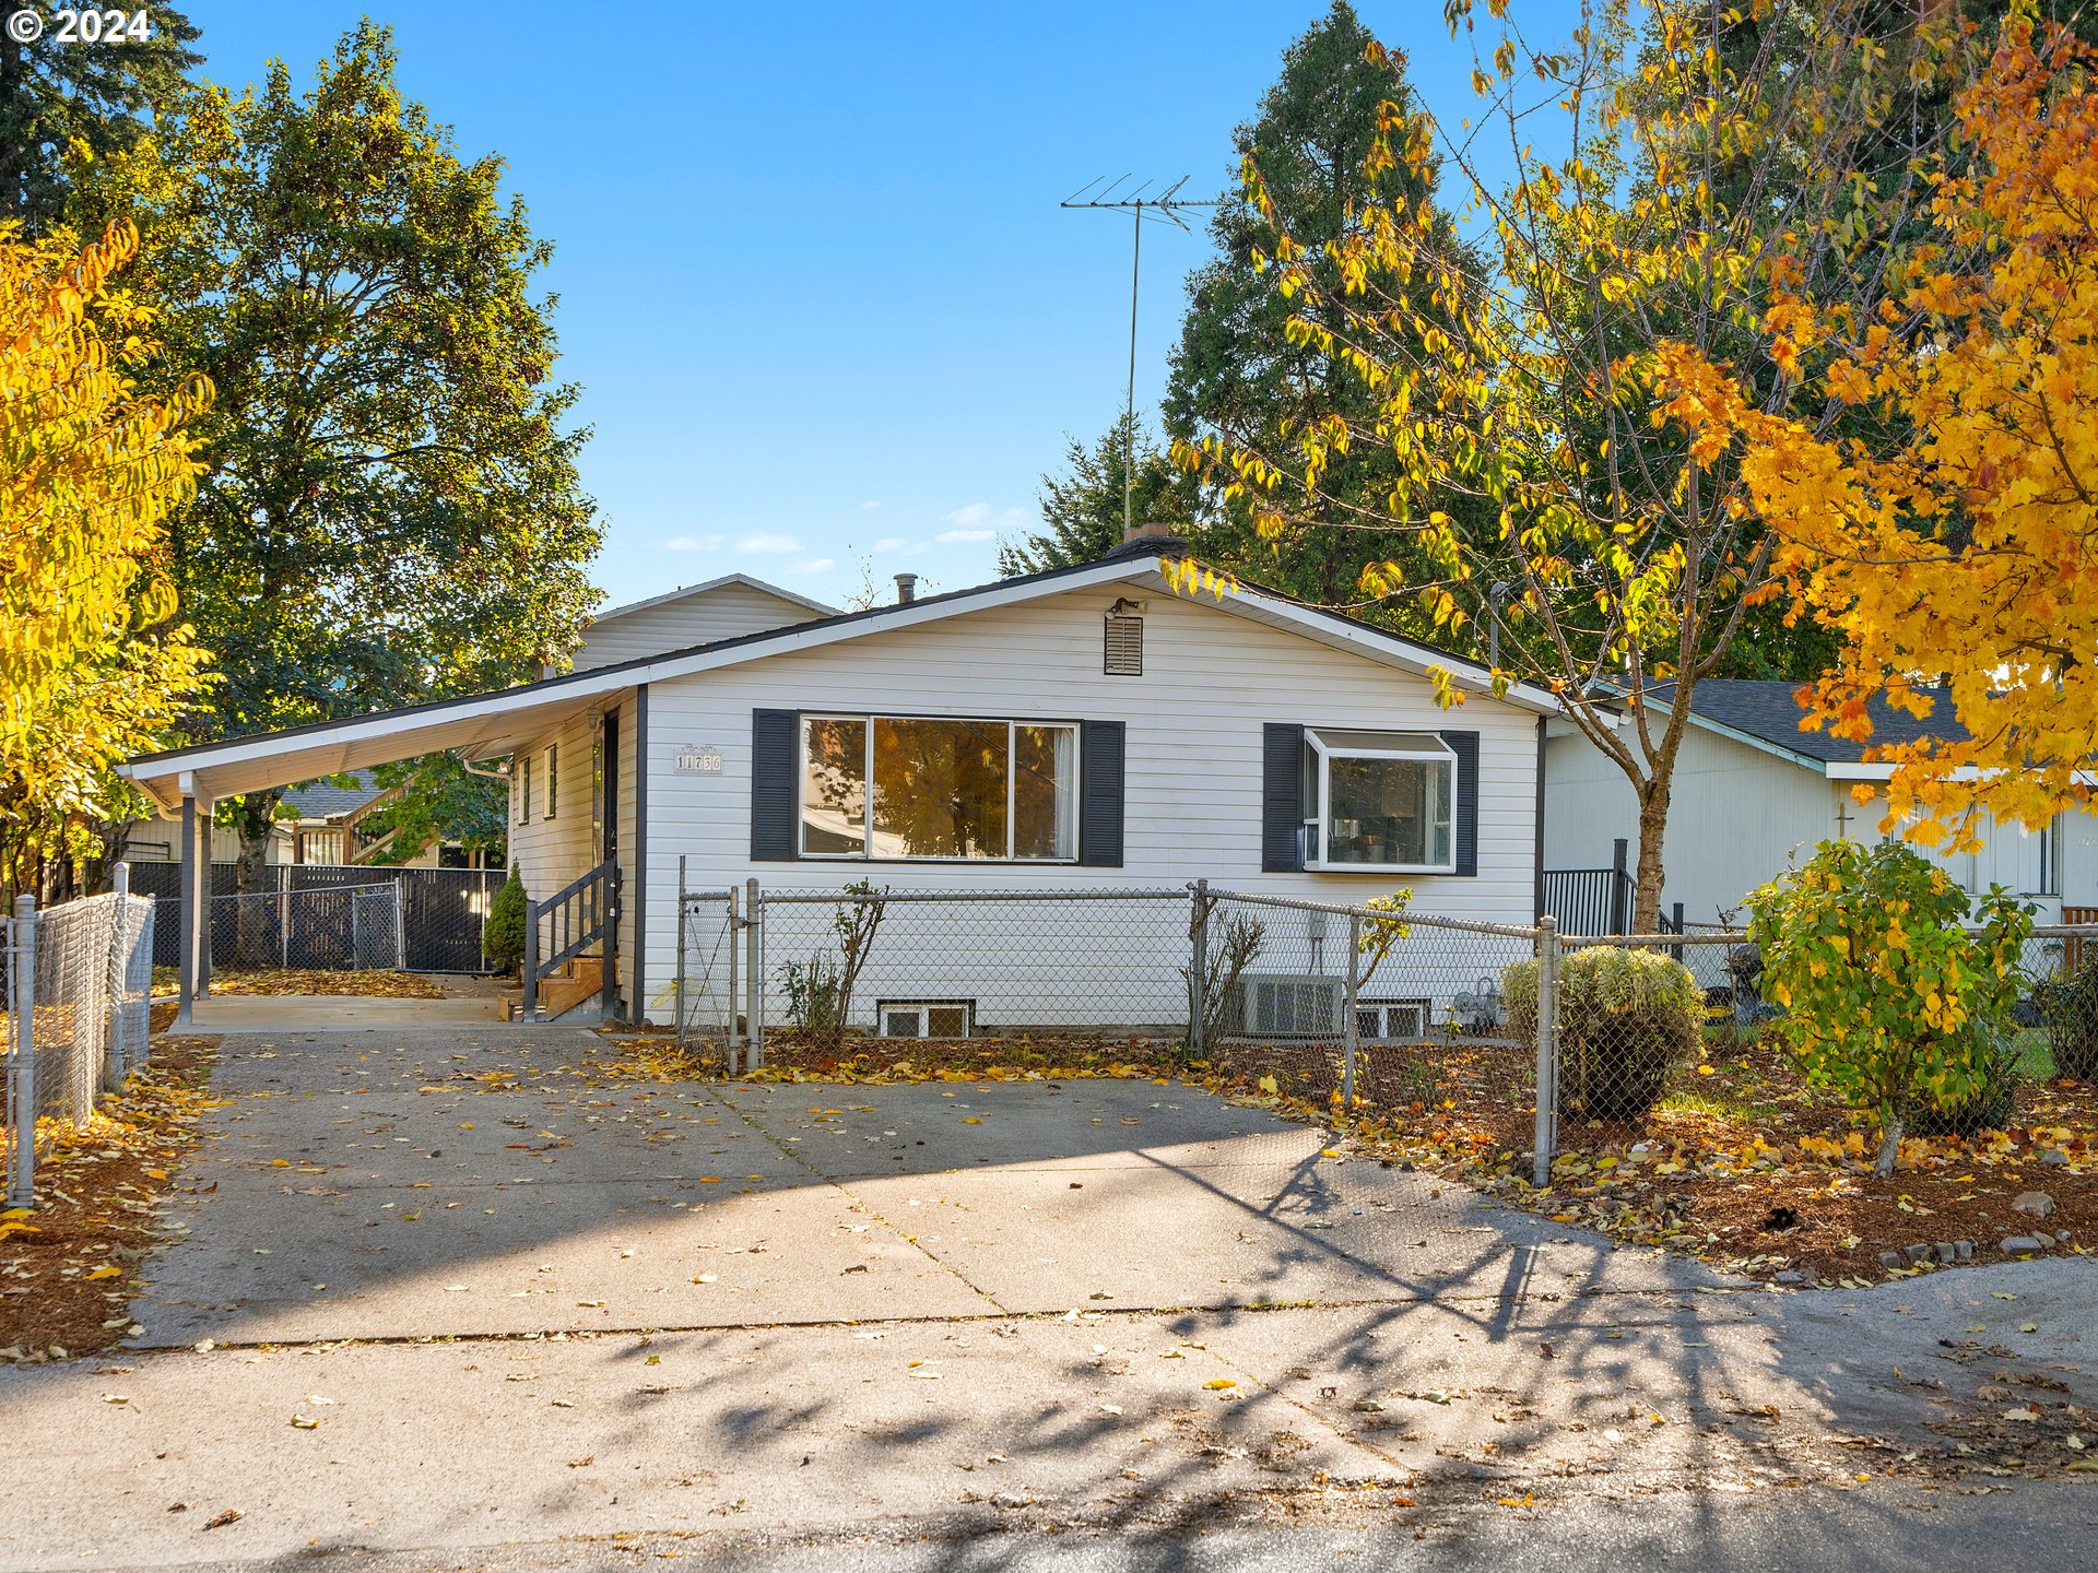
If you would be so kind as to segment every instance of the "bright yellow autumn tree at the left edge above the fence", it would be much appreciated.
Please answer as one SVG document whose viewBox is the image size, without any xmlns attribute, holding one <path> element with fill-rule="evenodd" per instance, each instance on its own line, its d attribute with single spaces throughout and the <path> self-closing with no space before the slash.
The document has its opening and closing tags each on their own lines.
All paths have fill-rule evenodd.
<svg viewBox="0 0 2098 1573">
<path fill-rule="evenodd" d="M 174 621 L 166 520 L 195 491 L 183 424 L 210 388 L 143 398 L 149 323 L 111 275 L 138 233 L 0 227 L 0 885 L 31 887 L 124 807 L 111 766 L 155 747 L 204 652 Z"/>
</svg>

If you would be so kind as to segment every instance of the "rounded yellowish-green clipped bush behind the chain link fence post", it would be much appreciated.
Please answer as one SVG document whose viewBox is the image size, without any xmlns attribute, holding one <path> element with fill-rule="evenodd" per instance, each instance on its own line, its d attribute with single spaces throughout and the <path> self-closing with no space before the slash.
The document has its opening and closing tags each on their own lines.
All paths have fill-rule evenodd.
<svg viewBox="0 0 2098 1573">
<path fill-rule="evenodd" d="M 1538 963 L 1500 975 L 1517 1038 L 1538 1030 Z M 1645 1120 L 1668 1070 L 1697 1051 L 1704 990 L 1657 950 L 1584 946 L 1559 963 L 1559 1114 Z"/>
</svg>

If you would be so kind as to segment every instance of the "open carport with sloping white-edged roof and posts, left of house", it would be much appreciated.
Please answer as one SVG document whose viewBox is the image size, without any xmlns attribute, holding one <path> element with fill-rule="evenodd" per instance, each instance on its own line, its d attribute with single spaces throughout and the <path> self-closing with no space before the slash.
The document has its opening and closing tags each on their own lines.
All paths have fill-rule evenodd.
<svg viewBox="0 0 2098 1573">
<path fill-rule="evenodd" d="M 558 728 L 562 721 L 621 707 L 627 701 L 634 703 L 636 715 L 627 747 L 636 751 L 636 759 L 644 759 L 648 749 L 646 684 L 636 684 L 631 673 L 598 669 L 522 684 L 495 694 L 409 705 L 348 721 L 317 721 L 224 742 L 149 753 L 120 766 L 120 774 L 134 780 L 166 818 L 180 822 L 178 1026 L 185 1030 L 197 1026 L 195 1003 L 210 996 L 212 988 L 210 824 L 218 801 L 430 753 L 451 753 L 468 763 L 495 759 L 514 753 L 533 736 Z M 640 797 L 642 782 L 646 782 L 646 772 L 638 770 L 636 824 L 642 824 L 646 807 Z M 642 866 L 644 837 L 636 835 L 634 841 L 636 845 L 621 847 L 619 862 L 631 900 L 640 902 L 642 887 L 634 872 Z M 606 946 L 613 944 L 615 931 L 617 925 L 606 921 Z M 634 965 L 638 969 L 638 958 Z M 642 998 L 640 977 L 634 979 L 631 998 Z"/>
</svg>

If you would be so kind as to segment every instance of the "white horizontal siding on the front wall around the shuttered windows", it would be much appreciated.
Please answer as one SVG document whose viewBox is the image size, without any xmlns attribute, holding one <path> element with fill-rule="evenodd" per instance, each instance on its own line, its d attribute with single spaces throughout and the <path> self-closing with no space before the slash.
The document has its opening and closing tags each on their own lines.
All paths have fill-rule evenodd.
<svg viewBox="0 0 2098 1573">
<path fill-rule="evenodd" d="M 871 877 L 896 889 L 1114 889 L 1183 885 L 1360 902 L 1410 885 L 1427 912 L 1527 923 L 1534 914 L 1536 717 L 1492 698 L 1443 711 L 1427 682 L 1192 600 L 1154 596 L 1146 615 L 1141 677 L 1101 673 L 1101 617 L 1122 587 L 1074 589 L 1018 608 L 967 612 L 919 629 L 869 633 L 833 648 L 753 659 L 650 688 L 648 799 L 648 1000 L 667 1009 L 676 971 L 669 912 L 678 860 L 690 889 L 722 889 L 757 877 L 768 889 L 835 889 Z M 860 864 L 749 858 L 753 709 L 883 711 L 1127 724 L 1125 860 L 1120 868 L 1068 864 Z M 1475 730 L 1479 732 L 1479 875 L 1261 872 L 1263 724 Z M 722 753 L 720 776 L 671 774 L 688 745 Z M 892 923 L 900 923 L 892 917 Z M 946 910 L 952 925 L 952 910 Z M 1020 904 L 1007 908 L 1024 917 Z M 1095 910 L 1093 925 L 1125 921 Z M 1066 914 L 1059 919 L 1070 923 Z M 1129 919 L 1154 933 L 1152 919 Z M 900 929 L 898 929 L 900 931 Z M 877 979 L 862 990 L 957 992 L 948 982 L 967 954 L 990 956 L 982 931 L 952 929 L 942 963 L 917 979 Z M 1101 938 L 1108 931 L 1101 931 Z M 1185 952 L 1185 908 L 1160 914 L 1156 956 L 1116 958 L 1099 938 L 1085 946 L 1095 994 L 1133 988 L 1101 969 L 1131 965 L 1156 988 Z M 1177 935 L 1177 938 L 1175 938 Z M 1137 944 L 1137 931 L 1127 935 Z M 1280 946 L 1282 935 L 1276 935 Z M 780 954 L 774 950 L 776 965 Z M 1469 967 L 1471 963 L 1462 963 Z M 982 963 L 978 973 L 1009 971 Z M 1467 973 L 1467 982 L 1475 973 Z M 1177 984 L 1169 984 L 1177 986 Z M 1070 988 L 1070 984 L 1066 984 Z M 1106 1015 L 1101 1019 L 1127 1019 Z"/>
</svg>

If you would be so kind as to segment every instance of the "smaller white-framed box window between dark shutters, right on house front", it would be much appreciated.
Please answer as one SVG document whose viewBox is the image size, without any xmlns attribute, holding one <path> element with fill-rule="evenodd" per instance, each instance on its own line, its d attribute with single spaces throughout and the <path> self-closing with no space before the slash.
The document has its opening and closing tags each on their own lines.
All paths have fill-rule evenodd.
<svg viewBox="0 0 2098 1573">
<path fill-rule="evenodd" d="M 1431 732 L 1305 730 L 1305 866 L 1454 872 L 1456 755 Z"/>
</svg>

